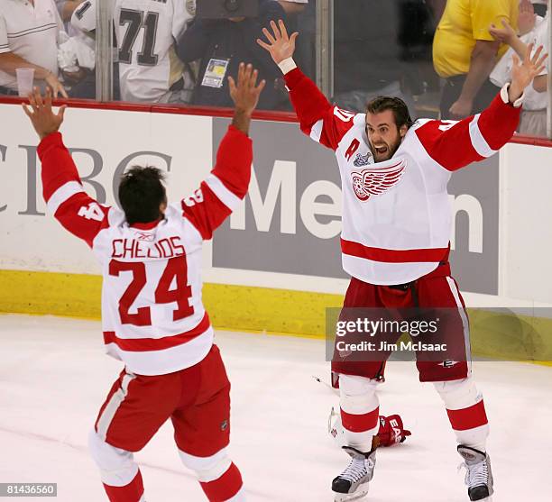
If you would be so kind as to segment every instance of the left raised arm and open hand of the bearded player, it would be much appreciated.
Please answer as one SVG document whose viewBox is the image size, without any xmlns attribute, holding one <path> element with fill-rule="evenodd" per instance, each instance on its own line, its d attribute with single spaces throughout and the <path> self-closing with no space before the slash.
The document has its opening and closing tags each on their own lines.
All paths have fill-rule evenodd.
<svg viewBox="0 0 552 502">
<path fill-rule="evenodd" d="M 259 39 L 257 43 L 270 52 L 273 61 L 284 74 L 301 131 L 314 141 L 336 150 L 339 141 L 353 127 L 354 114 L 331 105 L 316 84 L 297 67 L 293 53 L 299 33 L 294 32 L 289 36 L 281 20 L 278 23 L 272 21 L 271 29 L 272 32 L 267 28 L 262 30 L 268 42 Z"/>
</svg>

